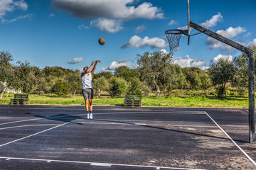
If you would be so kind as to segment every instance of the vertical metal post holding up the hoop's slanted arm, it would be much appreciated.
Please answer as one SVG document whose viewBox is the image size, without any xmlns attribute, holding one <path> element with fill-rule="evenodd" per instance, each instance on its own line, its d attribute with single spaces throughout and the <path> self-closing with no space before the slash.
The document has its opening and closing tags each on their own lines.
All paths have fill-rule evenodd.
<svg viewBox="0 0 256 170">
<path fill-rule="evenodd" d="M 250 143 L 255 143 L 255 56 L 254 52 L 249 57 L 249 130 Z"/>
</svg>

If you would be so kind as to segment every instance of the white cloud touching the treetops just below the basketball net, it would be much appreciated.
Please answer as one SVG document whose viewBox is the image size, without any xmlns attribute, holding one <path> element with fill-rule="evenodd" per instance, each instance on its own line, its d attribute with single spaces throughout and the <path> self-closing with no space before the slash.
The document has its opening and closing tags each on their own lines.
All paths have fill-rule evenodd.
<svg viewBox="0 0 256 170">
<path fill-rule="evenodd" d="M 208 69 L 206 62 L 199 59 L 191 59 L 188 55 L 185 57 L 174 57 L 174 64 L 178 64 L 181 67 L 199 67 L 200 69 Z"/>
</svg>

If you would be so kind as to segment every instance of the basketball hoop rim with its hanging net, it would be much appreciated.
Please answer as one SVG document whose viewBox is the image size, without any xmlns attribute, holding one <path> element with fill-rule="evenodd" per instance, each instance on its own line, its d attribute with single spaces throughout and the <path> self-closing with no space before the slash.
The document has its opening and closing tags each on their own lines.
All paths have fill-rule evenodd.
<svg viewBox="0 0 256 170">
<path fill-rule="evenodd" d="M 188 30 L 166 30 L 166 38 L 169 41 L 170 52 L 177 51 L 179 49 L 179 40 L 181 35 L 188 35 Z"/>
</svg>

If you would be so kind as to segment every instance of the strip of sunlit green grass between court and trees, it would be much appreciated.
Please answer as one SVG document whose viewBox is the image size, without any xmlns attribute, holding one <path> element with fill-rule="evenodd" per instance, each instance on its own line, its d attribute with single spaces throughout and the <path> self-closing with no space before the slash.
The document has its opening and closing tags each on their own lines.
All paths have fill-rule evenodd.
<svg viewBox="0 0 256 170">
<path fill-rule="evenodd" d="M 0 103 L 10 103 L 14 94 L 6 94 Z M 30 104 L 51 104 L 51 105 L 84 105 L 85 101 L 82 96 L 56 96 L 56 95 L 29 95 Z M 110 96 L 102 96 L 102 98 L 94 98 L 93 105 L 105 106 L 123 106 L 124 98 L 112 98 Z M 206 96 L 149 96 L 142 98 L 142 106 L 172 106 L 172 107 L 248 107 L 248 98 L 228 96 L 225 98 L 206 97 Z"/>
</svg>

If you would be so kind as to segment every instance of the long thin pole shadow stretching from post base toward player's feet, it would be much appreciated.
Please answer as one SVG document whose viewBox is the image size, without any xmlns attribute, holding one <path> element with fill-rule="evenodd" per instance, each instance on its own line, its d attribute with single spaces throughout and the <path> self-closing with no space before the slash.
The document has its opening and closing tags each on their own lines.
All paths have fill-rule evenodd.
<svg viewBox="0 0 256 170">
<path fill-rule="evenodd" d="M 213 137 L 213 138 L 218 138 L 218 139 L 221 139 L 221 140 L 230 140 L 229 138 L 226 138 L 226 137 L 218 137 L 218 136 L 213 136 L 213 135 L 204 135 L 204 134 L 199 134 L 199 133 L 194 133 L 194 132 L 186 132 L 186 131 L 181 131 L 181 130 L 172 130 L 172 129 L 160 128 L 160 127 L 151 126 L 151 125 L 128 123 L 128 122 L 118 121 L 118 120 L 102 120 L 102 119 L 94 119 L 94 120 L 102 121 L 102 122 L 111 122 L 111 123 L 124 123 L 124 124 L 128 124 L 128 125 L 136 125 L 136 126 L 142 126 L 142 127 L 146 127 L 146 128 L 154 128 L 154 129 L 158 129 L 158 130 L 169 130 L 171 132 L 181 132 L 181 133 L 189 134 L 189 135 L 198 135 L 198 136 L 203 136 L 203 137 Z M 235 142 L 248 143 L 247 141 L 243 141 L 243 140 L 234 140 L 234 141 Z"/>
</svg>

